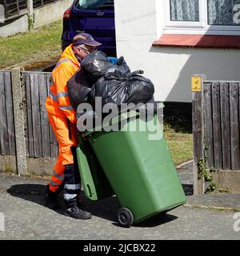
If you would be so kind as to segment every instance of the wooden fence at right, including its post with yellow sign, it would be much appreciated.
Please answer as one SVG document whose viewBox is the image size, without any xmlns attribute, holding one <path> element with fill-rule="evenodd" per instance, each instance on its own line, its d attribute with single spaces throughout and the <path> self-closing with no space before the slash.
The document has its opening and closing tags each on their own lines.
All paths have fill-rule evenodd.
<svg viewBox="0 0 240 256">
<path fill-rule="evenodd" d="M 192 90 L 194 194 L 206 192 L 206 176 L 218 179 L 219 170 L 235 179 L 240 189 L 240 82 L 207 81 L 204 75 L 195 75 Z"/>
</svg>

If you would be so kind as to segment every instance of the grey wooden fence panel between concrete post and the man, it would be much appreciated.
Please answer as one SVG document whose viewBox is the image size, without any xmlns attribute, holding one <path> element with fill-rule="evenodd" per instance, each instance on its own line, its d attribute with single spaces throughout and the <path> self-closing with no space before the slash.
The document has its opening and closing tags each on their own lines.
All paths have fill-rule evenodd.
<svg viewBox="0 0 240 256">
<path fill-rule="evenodd" d="M 45 109 L 50 78 L 51 73 L 22 73 L 26 154 L 30 158 L 56 158 L 58 156 L 58 143 L 49 125 Z"/>
</svg>

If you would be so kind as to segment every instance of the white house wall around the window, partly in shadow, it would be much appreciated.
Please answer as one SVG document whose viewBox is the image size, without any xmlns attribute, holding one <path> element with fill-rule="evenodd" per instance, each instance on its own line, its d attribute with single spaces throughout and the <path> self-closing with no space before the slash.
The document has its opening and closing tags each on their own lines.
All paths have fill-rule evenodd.
<svg viewBox="0 0 240 256">
<path fill-rule="evenodd" d="M 142 69 L 154 82 L 155 99 L 191 102 L 190 77 L 240 81 L 240 50 L 158 47 L 165 22 L 162 0 L 115 0 L 118 56 L 131 70 Z"/>
</svg>

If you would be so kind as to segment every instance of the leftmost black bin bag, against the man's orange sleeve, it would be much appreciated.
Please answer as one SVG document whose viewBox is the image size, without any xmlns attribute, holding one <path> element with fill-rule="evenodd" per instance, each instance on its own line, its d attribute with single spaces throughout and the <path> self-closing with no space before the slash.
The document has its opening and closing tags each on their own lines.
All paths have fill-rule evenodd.
<svg viewBox="0 0 240 256">
<path fill-rule="evenodd" d="M 87 102 L 93 83 L 82 70 L 76 72 L 67 82 L 71 106 L 77 110 L 78 105 Z"/>
</svg>

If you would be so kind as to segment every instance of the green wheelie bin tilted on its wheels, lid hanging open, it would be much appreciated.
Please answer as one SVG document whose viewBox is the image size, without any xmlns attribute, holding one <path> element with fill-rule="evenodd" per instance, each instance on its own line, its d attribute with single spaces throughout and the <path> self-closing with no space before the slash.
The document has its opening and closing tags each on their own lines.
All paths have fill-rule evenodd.
<svg viewBox="0 0 240 256">
<path fill-rule="evenodd" d="M 78 166 L 86 197 L 99 200 L 116 194 L 122 207 L 118 223 L 131 226 L 181 206 L 186 196 L 165 138 L 157 134 L 150 139 L 156 124 L 160 126 L 158 116 L 142 120 L 130 111 L 113 118 L 111 125 L 120 121 L 118 131 L 98 127 L 79 136 Z"/>
</svg>

